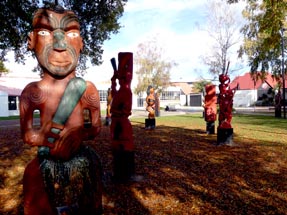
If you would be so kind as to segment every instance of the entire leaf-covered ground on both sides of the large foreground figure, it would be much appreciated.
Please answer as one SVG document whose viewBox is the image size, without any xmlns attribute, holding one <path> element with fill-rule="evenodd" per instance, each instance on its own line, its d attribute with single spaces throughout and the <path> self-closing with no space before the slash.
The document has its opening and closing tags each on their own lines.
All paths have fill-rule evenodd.
<svg viewBox="0 0 287 215">
<path fill-rule="evenodd" d="M 143 180 L 115 185 L 110 180 L 112 155 L 109 128 L 103 126 L 94 147 L 104 169 L 104 214 L 287 214 L 286 144 L 260 140 L 248 131 L 235 132 L 232 146 L 216 146 L 204 123 L 157 122 L 152 131 L 133 121 L 136 173 Z M 197 116 L 197 118 L 199 118 Z M 203 119 L 200 119 L 203 121 Z M 240 128 L 236 128 L 238 130 Z M 246 132 L 246 130 L 245 130 Z M 254 133 L 253 133 L 254 132 Z M 265 133 L 268 131 L 264 131 Z M 0 214 L 22 214 L 22 176 L 36 149 L 22 143 L 19 127 L 0 132 Z M 286 132 L 278 130 L 280 140 Z M 272 139 L 272 138 L 271 138 Z M 285 141 L 286 142 L 286 141 Z"/>
</svg>

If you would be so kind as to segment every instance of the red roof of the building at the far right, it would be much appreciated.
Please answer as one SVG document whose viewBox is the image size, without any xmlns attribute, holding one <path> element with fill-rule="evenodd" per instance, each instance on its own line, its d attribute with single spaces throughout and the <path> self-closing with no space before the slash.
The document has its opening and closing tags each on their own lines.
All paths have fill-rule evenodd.
<svg viewBox="0 0 287 215">
<path fill-rule="evenodd" d="M 235 88 L 238 84 L 239 90 L 254 90 L 259 88 L 268 88 L 268 85 L 272 88 L 276 85 L 276 80 L 273 79 L 270 73 L 267 73 L 266 80 L 262 81 L 261 79 L 257 80 L 256 82 L 252 79 L 251 73 L 247 72 L 242 76 L 237 76 L 231 83 L 230 88 Z M 287 84 L 287 82 L 285 81 Z M 285 86 L 287 86 L 285 84 Z"/>
</svg>

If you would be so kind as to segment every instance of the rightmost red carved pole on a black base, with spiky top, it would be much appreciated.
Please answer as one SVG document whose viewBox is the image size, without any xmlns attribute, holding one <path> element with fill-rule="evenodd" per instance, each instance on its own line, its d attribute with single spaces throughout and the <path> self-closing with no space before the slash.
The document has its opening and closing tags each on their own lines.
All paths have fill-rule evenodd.
<svg viewBox="0 0 287 215">
<path fill-rule="evenodd" d="M 230 78 L 228 76 L 228 67 L 226 73 L 219 75 L 219 125 L 217 128 L 217 144 L 232 144 L 233 128 L 231 126 L 233 96 L 235 89 L 229 86 Z"/>
</svg>

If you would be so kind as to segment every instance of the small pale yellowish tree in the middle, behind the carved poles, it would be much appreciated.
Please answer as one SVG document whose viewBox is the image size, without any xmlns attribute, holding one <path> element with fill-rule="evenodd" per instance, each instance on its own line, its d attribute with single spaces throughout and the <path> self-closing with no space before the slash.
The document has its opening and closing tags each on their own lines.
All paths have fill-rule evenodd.
<svg viewBox="0 0 287 215">
<path fill-rule="evenodd" d="M 135 64 L 138 66 L 138 85 L 136 94 L 145 92 L 152 85 L 155 90 L 164 89 L 170 83 L 170 70 L 175 62 L 164 60 L 163 50 L 156 40 L 150 40 L 138 45 L 135 55 Z"/>
</svg>

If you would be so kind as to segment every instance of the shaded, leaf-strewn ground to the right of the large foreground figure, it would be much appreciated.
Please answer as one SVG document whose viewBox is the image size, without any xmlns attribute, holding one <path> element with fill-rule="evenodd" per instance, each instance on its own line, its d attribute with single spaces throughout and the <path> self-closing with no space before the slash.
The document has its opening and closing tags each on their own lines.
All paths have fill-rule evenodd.
<svg viewBox="0 0 287 215">
<path fill-rule="evenodd" d="M 204 130 L 158 126 L 147 131 L 140 123 L 133 128 L 136 171 L 144 180 L 121 186 L 109 184 L 105 198 L 112 202 L 112 208 L 106 202 L 106 214 L 287 211 L 283 154 L 278 159 L 275 151 L 270 154 L 262 145 L 238 141 L 236 136 L 235 146 L 216 146 L 216 135 L 207 135 Z M 102 144 L 106 144 L 103 139 L 96 146 L 98 151 L 103 149 Z M 110 171 L 111 158 L 102 159 L 105 171 Z"/>
</svg>

